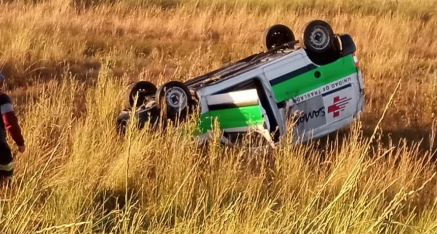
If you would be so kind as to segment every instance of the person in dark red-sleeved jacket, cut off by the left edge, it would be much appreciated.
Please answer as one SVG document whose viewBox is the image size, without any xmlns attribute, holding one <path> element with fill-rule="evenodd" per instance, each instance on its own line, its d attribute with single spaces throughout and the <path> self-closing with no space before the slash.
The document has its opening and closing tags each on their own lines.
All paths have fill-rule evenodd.
<svg viewBox="0 0 437 234">
<path fill-rule="evenodd" d="M 6 141 L 7 132 L 18 146 L 20 153 L 23 153 L 26 148 L 20 125 L 12 108 L 11 98 L 3 92 L 4 82 L 5 76 L 0 74 L 0 115 L 2 116 L 2 121 L 0 121 L 0 180 L 11 178 L 14 173 L 12 152 Z"/>
</svg>

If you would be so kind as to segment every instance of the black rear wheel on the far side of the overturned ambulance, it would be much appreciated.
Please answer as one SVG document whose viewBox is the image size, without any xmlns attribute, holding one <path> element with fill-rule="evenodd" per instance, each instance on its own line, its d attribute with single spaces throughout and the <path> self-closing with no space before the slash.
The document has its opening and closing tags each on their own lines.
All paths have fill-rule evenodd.
<svg viewBox="0 0 437 234">
<path fill-rule="evenodd" d="M 293 31 L 282 24 L 275 24 L 264 32 L 265 47 L 267 50 L 296 40 Z"/>
</svg>

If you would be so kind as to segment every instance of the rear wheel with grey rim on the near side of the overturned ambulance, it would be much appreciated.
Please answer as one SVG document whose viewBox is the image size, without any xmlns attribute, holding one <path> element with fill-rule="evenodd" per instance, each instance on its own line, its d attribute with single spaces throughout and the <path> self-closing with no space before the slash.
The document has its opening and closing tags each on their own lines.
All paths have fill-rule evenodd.
<svg viewBox="0 0 437 234">
<path fill-rule="evenodd" d="M 312 53 L 338 51 L 337 42 L 331 26 L 323 20 L 309 21 L 303 30 L 303 48 Z"/>
</svg>

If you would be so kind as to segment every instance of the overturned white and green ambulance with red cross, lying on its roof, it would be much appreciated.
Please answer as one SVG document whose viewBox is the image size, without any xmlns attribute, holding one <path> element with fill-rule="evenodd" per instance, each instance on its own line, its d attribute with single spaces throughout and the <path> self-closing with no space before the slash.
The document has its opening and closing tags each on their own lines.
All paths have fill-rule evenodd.
<svg viewBox="0 0 437 234">
<path fill-rule="evenodd" d="M 271 144 L 286 133 L 290 118 L 299 142 L 351 124 L 363 110 L 364 94 L 352 37 L 334 34 L 322 20 L 308 22 L 301 37 L 296 40 L 287 26 L 273 25 L 265 31 L 264 52 L 185 82 L 159 88 L 137 82 L 129 92 L 131 106 L 120 113 L 117 124 L 126 126 L 131 116 L 140 128 L 162 118 L 183 120 L 199 108 L 200 139 L 210 137 L 216 120 L 223 143 L 255 131 Z"/>
</svg>

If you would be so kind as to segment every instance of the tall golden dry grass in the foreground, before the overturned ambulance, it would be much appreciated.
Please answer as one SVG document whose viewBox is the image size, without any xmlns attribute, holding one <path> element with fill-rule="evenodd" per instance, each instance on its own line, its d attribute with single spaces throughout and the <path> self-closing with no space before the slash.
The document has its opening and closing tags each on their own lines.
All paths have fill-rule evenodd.
<svg viewBox="0 0 437 234">
<path fill-rule="evenodd" d="M 66 76 L 29 100 L 28 151 L 14 148 L 16 176 L 1 190 L 2 233 L 437 229 L 435 162 L 417 144 L 370 144 L 360 123 L 325 146 L 288 144 L 289 132 L 271 153 L 205 148 L 193 120 L 155 133 L 131 125 L 118 137 L 125 83 L 104 67 L 91 89 Z M 78 95 L 86 113 L 75 117 Z"/>
</svg>

